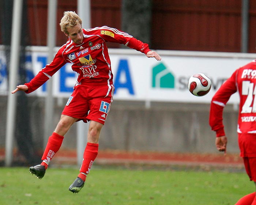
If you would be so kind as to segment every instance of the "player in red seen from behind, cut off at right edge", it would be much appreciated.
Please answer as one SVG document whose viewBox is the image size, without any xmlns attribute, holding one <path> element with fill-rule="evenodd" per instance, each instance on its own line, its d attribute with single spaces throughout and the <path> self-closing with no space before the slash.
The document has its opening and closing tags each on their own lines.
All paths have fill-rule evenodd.
<svg viewBox="0 0 256 205">
<path fill-rule="evenodd" d="M 250 180 L 256 185 L 256 60 L 237 69 L 212 98 L 209 123 L 216 132 L 217 149 L 225 153 L 227 137 L 222 122 L 223 109 L 237 91 L 240 95 L 237 125 L 240 156 Z M 242 197 L 236 205 L 256 205 L 255 192 Z"/>
</svg>

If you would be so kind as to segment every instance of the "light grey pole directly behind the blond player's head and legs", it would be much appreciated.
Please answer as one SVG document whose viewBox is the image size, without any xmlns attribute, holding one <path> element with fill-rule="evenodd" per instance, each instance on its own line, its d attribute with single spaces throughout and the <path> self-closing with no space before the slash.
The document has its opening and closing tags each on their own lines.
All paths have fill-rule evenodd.
<svg viewBox="0 0 256 205">
<path fill-rule="evenodd" d="M 90 0 L 78 0 L 78 15 L 82 19 L 82 27 L 88 29 L 91 27 L 91 4 Z M 76 138 L 76 154 L 77 164 L 81 165 L 83 161 L 83 152 L 86 145 L 86 136 L 89 130 L 89 124 L 79 121 L 77 123 L 77 138 Z"/>
</svg>

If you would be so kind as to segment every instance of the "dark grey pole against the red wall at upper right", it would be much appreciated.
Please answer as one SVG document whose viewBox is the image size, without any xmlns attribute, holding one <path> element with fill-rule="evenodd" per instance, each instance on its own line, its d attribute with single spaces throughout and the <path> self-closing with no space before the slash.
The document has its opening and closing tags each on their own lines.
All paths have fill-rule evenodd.
<svg viewBox="0 0 256 205">
<path fill-rule="evenodd" d="M 249 0 L 242 0 L 241 52 L 248 52 Z"/>
</svg>

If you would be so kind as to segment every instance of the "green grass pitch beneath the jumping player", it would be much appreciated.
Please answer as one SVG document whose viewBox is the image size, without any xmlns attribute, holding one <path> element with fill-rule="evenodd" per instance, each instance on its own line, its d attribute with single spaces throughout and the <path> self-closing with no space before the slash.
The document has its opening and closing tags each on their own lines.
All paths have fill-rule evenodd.
<svg viewBox="0 0 256 205">
<path fill-rule="evenodd" d="M 255 190 L 245 173 L 128 170 L 95 167 L 78 194 L 68 191 L 75 168 L 0 168 L 1 205 L 233 205 Z"/>
</svg>

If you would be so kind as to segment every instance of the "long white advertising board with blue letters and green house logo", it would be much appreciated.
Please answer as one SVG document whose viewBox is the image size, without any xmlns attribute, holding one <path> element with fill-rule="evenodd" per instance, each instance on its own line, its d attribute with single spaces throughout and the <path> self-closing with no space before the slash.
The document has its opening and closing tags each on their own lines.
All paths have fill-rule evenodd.
<svg viewBox="0 0 256 205">
<path fill-rule="evenodd" d="M 57 50 L 57 49 L 56 49 Z M 221 84 L 239 67 L 254 59 L 254 54 L 157 51 L 161 61 L 147 58 L 133 49 L 109 49 L 116 88 L 114 100 L 209 103 Z M 47 63 L 46 47 L 29 47 L 26 54 L 28 81 Z M 7 90 L 6 60 L 0 49 L 0 94 Z M 195 73 L 204 73 L 212 81 L 211 91 L 202 97 L 193 96 L 187 87 Z M 53 77 L 53 96 L 69 97 L 77 73 L 66 64 Z M 25 83 L 25 82 L 24 82 Z M 47 83 L 46 83 L 47 84 Z M 29 95 L 44 96 L 46 84 Z M 239 96 L 231 96 L 238 103 Z"/>
</svg>

